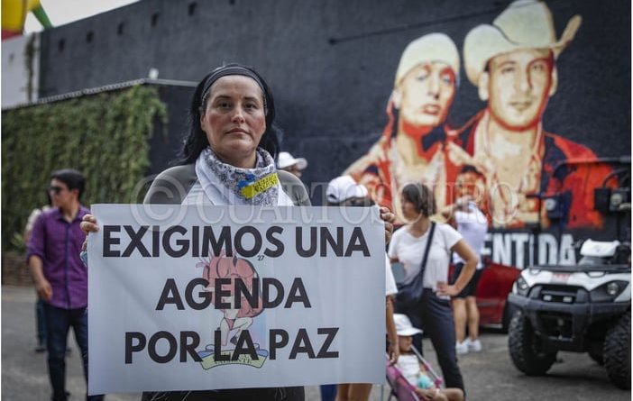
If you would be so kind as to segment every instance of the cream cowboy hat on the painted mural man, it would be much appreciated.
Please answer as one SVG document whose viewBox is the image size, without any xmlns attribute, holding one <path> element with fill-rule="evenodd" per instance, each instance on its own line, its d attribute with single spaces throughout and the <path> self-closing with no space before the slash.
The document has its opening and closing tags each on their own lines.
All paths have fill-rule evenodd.
<svg viewBox="0 0 633 401">
<path fill-rule="evenodd" d="M 556 40 L 554 21 L 547 5 L 535 0 L 518 0 L 491 25 L 482 24 L 468 32 L 463 42 L 466 75 L 477 86 L 488 60 L 512 50 L 550 49 L 557 58 L 573 41 L 582 21 L 580 15 L 574 15 Z"/>
</svg>

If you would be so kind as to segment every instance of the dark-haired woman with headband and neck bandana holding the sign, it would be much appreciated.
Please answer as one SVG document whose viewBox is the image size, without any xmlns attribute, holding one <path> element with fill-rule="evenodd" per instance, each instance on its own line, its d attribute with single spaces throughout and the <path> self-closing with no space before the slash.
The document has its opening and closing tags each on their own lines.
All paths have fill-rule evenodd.
<svg viewBox="0 0 633 401">
<path fill-rule="evenodd" d="M 144 203 L 176 205 L 309 205 L 306 188 L 277 170 L 279 129 L 271 90 L 252 68 L 228 64 L 197 85 L 189 106 L 189 129 L 179 166 L 163 171 Z M 394 215 L 381 208 L 385 238 Z M 82 223 L 97 230 L 94 216 Z M 246 385 L 246 383 L 245 383 Z M 303 400 L 303 387 L 236 388 L 145 393 L 143 400 Z"/>
</svg>

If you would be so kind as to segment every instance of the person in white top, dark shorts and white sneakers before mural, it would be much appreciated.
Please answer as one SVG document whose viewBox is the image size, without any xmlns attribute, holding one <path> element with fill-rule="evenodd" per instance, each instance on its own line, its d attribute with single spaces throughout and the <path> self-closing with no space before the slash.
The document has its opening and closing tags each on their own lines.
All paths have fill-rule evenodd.
<svg viewBox="0 0 633 401">
<path fill-rule="evenodd" d="M 479 309 L 477 309 L 477 298 L 475 292 L 477 283 L 482 277 L 482 248 L 488 232 L 488 219 L 477 205 L 478 200 L 482 200 L 482 174 L 472 166 L 464 166 L 455 183 L 454 205 L 445 209 L 443 214 L 446 218 L 452 218 L 457 232 L 462 234 L 463 240 L 470 245 L 477 254 L 479 262 L 477 268 L 463 290 L 453 297 L 453 318 L 455 323 L 455 351 L 458 354 L 466 352 L 482 351 L 482 342 L 479 341 Z M 464 261 L 456 253 L 453 254 L 454 274 L 451 283 L 459 277 L 462 272 Z M 466 325 L 468 325 L 468 338 L 466 338 Z"/>
</svg>

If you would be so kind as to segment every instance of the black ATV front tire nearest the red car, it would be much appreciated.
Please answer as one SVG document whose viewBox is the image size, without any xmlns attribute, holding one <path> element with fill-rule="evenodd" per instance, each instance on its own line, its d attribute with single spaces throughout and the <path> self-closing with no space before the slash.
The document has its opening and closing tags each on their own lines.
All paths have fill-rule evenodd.
<svg viewBox="0 0 633 401">
<path fill-rule="evenodd" d="M 527 376 L 545 375 L 556 360 L 556 352 L 542 351 L 540 339 L 521 311 L 510 320 L 508 347 L 514 366 Z"/>
</svg>

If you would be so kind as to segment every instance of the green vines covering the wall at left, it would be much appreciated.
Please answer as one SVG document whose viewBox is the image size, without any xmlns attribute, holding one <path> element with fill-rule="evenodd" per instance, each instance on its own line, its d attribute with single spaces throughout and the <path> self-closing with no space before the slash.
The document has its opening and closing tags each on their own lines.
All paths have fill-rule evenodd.
<svg viewBox="0 0 633 401">
<path fill-rule="evenodd" d="M 16 248 L 32 209 L 46 204 L 55 169 L 86 176 L 84 205 L 138 202 L 157 122 L 167 126 L 167 108 L 146 86 L 3 111 L 3 249 Z"/>
</svg>

